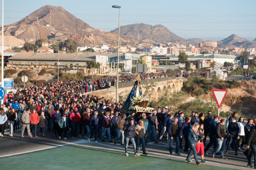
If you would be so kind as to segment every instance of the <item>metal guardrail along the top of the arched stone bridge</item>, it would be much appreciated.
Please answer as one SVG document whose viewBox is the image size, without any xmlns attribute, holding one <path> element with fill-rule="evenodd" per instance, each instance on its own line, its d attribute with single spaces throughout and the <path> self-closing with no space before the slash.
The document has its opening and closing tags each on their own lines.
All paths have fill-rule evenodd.
<svg viewBox="0 0 256 170">
<path fill-rule="evenodd" d="M 161 81 L 168 81 L 168 80 L 174 80 L 176 79 L 175 76 L 170 76 L 170 77 L 163 77 L 163 78 L 154 78 L 154 79 L 148 79 L 148 80 L 140 80 L 140 84 L 151 84 L 151 83 L 156 83 L 156 82 L 161 82 Z M 119 82 L 118 83 L 118 88 L 126 88 L 134 85 L 135 81 L 132 82 Z M 114 84 L 114 87 L 116 88 L 116 83 Z"/>
</svg>

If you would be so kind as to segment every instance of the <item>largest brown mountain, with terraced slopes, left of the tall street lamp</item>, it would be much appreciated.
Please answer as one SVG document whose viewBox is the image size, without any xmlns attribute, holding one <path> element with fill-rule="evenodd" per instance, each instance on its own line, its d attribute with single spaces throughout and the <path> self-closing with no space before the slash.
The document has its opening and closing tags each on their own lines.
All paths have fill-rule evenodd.
<svg viewBox="0 0 256 170">
<path fill-rule="evenodd" d="M 76 18 L 64 8 L 46 5 L 26 16 L 22 20 L 6 25 L 5 35 L 34 42 L 38 39 L 66 39 L 72 37 L 81 44 L 110 43 L 117 40 L 117 35 L 102 32 Z"/>
</svg>

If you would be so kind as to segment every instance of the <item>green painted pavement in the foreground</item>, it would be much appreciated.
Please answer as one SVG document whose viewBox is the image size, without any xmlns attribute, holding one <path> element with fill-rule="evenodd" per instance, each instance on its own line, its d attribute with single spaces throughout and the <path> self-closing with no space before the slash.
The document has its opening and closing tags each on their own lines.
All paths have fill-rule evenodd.
<svg viewBox="0 0 256 170">
<path fill-rule="evenodd" d="M 187 162 L 151 156 L 134 157 L 134 154 L 124 156 L 123 152 L 71 145 L 56 149 L 1 158 L 0 162 L 0 170 L 151 170 L 159 168 L 162 170 L 230 169 L 207 164 L 196 165 L 194 161 L 192 164 L 188 164 Z"/>
</svg>

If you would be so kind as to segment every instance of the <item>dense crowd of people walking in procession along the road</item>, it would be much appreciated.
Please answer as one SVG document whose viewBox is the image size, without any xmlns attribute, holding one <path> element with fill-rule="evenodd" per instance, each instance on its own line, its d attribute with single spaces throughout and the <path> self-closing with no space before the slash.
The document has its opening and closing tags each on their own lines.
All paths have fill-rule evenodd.
<svg viewBox="0 0 256 170">
<path fill-rule="evenodd" d="M 158 78 L 171 74 L 141 75 L 141 78 Z M 104 80 L 104 79 L 102 79 Z M 110 79 L 108 79 L 110 80 Z M 180 150 L 187 154 L 186 162 L 192 157 L 196 164 L 205 163 L 204 155 L 212 149 L 212 157 L 219 155 L 227 159 L 229 150 L 246 150 L 248 167 L 256 168 L 256 120 L 244 118 L 234 112 L 227 119 L 212 116 L 208 111 L 198 114 L 192 111 L 186 116 L 182 111 L 172 113 L 168 107 L 158 107 L 152 113 L 122 113 L 122 102 L 113 99 L 86 95 L 86 84 L 97 80 L 68 80 L 64 82 L 32 85 L 28 88 L 9 92 L 0 106 L 0 136 L 9 127 L 9 136 L 21 129 L 21 137 L 45 137 L 45 131 L 52 132 L 58 139 L 84 136 L 88 142 L 98 141 L 120 144 L 127 148 L 133 146 L 135 156 L 147 155 L 148 141 L 154 144 L 167 139 L 166 148 L 170 154 L 180 155 Z M 121 112 L 120 112 L 121 111 Z M 158 135 L 157 135 L 158 134 Z M 106 139 L 107 137 L 107 139 Z M 206 137 L 210 141 L 206 143 Z M 173 141 L 176 146 L 173 147 Z M 184 142 L 184 147 L 182 143 Z M 207 145 L 206 145 L 207 144 Z M 246 148 L 245 148 L 245 147 Z M 198 159 L 200 152 L 201 161 Z M 252 164 L 254 156 L 254 165 Z"/>
</svg>

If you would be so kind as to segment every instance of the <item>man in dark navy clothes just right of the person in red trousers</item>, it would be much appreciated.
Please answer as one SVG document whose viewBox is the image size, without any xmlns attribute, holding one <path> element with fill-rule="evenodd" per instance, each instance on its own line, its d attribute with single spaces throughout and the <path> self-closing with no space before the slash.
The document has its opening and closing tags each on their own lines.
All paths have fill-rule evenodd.
<svg viewBox="0 0 256 170">
<path fill-rule="evenodd" d="M 205 147 L 204 149 L 204 153 L 207 154 L 207 150 L 212 146 L 213 144 L 213 148 L 216 148 L 216 133 L 217 133 L 217 129 L 216 129 L 216 126 L 217 126 L 217 123 L 219 121 L 219 118 L 218 118 L 218 115 L 215 115 L 213 117 L 213 121 L 210 125 L 210 131 L 209 131 L 209 137 L 210 137 L 210 142 L 208 143 L 208 145 Z"/>
</svg>

